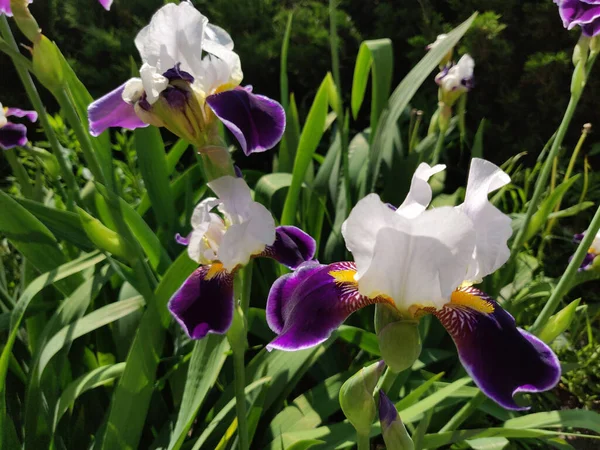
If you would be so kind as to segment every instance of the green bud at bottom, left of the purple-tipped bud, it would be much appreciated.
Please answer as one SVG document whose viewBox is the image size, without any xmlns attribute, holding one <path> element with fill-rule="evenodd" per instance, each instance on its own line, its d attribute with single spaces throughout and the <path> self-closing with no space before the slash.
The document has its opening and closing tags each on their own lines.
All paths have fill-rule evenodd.
<svg viewBox="0 0 600 450">
<path fill-rule="evenodd" d="M 383 361 L 360 369 L 348 378 L 340 389 L 340 406 L 357 433 L 369 435 L 377 407 L 373 391 L 383 373 Z"/>
</svg>

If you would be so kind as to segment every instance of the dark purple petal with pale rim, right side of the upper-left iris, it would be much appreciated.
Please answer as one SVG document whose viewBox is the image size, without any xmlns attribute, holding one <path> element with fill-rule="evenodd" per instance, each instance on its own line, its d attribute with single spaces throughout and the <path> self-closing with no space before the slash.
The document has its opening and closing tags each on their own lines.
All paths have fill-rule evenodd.
<svg viewBox="0 0 600 450">
<path fill-rule="evenodd" d="M 229 128 L 246 155 L 275 147 L 285 130 L 285 112 L 275 100 L 237 87 L 206 102 Z"/>
</svg>

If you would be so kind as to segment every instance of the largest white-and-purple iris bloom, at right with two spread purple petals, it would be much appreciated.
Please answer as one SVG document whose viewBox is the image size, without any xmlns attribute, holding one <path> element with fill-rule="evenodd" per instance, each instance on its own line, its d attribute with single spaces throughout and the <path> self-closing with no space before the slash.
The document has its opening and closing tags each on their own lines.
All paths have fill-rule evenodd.
<svg viewBox="0 0 600 450">
<path fill-rule="evenodd" d="M 354 262 L 308 262 L 275 282 L 267 320 L 278 336 L 268 348 L 317 345 L 352 312 L 373 303 L 390 305 L 408 320 L 433 314 L 480 389 L 505 408 L 524 409 L 513 396 L 552 388 L 560 377 L 558 360 L 473 287 L 509 257 L 511 221 L 488 194 L 510 177 L 488 161 L 473 159 L 464 203 L 428 210 L 428 179 L 443 169 L 421 164 L 397 209 L 376 194 L 357 203 L 342 226 Z"/>
</svg>

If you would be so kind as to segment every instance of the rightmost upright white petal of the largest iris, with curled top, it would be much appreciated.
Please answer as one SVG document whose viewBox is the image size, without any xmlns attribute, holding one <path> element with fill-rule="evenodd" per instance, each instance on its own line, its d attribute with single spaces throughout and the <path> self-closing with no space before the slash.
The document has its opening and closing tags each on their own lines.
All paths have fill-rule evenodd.
<svg viewBox="0 0 600 450">
<path fill-rule="evenodd" d="M 509 258 L 507 241 L 511 219 L 488 201 L 488 194 L 510 183 L 510 177 L 495 164 L 474 158 L 469 170 L 465 201 L 457 209 L 473 222 L 476 243 L 465 279 L 478 282 Z"/>
</svg>

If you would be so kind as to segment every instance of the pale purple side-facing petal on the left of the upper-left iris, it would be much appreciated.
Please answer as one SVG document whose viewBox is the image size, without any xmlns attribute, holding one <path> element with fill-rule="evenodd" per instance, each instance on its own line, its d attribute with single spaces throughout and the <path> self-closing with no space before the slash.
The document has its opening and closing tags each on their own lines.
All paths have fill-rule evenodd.
<svg viewBox="0 0 600 450">
<path fill-rule="evenodd" d="M 99 136 L 110 127 L 135 130 L 136 128 L 148 126 L 137 116 L 133 105 L 123 100 L 125 84 L 123 83 L 114 91 L 95 100 L 88 107 L 90 134 L 92 136 Z"/>
</svg>

